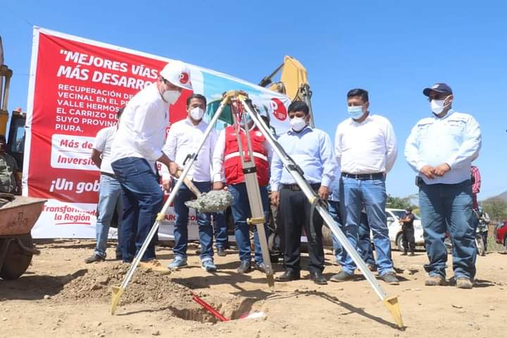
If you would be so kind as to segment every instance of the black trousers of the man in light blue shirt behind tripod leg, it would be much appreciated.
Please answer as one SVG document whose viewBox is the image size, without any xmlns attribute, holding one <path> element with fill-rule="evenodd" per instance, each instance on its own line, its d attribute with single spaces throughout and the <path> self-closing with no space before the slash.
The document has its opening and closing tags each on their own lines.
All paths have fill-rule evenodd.
<svg viewBox="0 0 507 338">
<path fill-rule="evenodd" d="M 318 184 L 317 184 L 318 185 Z M 318 189 L 318 187 L 313 187 Z M 280 189 L 280 225 L 284 238 L 284 268 L 287 271 L 299 273 L 301 270 L 301 232 L 304 229 L 307 237 L 310 231 L 310 208 L 305 194 L 301 191 Z M 324 249 L 322 238 L 323 219 L 317 211 L 313 213 L 315 226 L 315 241 L 308 239 L 308 253 L 310 254 L 311 273 L 324 270 Z"/>
</svg>

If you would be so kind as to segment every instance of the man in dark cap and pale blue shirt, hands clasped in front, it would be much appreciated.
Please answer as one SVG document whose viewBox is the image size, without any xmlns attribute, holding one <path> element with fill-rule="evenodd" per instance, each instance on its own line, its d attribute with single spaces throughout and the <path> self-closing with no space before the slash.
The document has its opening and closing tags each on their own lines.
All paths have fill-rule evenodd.
<svg viewBox="0 0 507 338">
<path fill-rule="evenodd" d="M 445 284 L 446 229 L 453 242 L 453 282 L 471 289 L 475 277 L 475 225 L 470 165 L 481 147 L 481 132 L 471 115 L 452 109 L 453 92 L 445 83 L 423 90 L 433 116 L 423 118 L 406 140 L 405 157 L 418 172 L 420 213 L 430 263 L 425 284 Z M 449 225 L 449 226 L 448 226 Z"/>
</svg>

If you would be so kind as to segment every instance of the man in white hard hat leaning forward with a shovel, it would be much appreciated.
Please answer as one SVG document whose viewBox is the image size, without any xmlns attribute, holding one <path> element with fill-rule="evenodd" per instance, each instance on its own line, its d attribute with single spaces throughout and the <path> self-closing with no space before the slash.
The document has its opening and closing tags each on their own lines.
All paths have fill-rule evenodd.
<svg viewBox="0 0 507 338">
<path fill-rule="evenodd" d="M 177 165 L 162 147 L 169 123 L 169 105 L 180 97 L 182 89 L 192 90 L 190 71 L 181 61 L 170 61 L 161 70 L 157 82 L 137 93 L 125 107 L 111 153 L 111 166 L 123 189 L 124 214 L 123 261 L 132 262 L 162 207 L 156 161 L 170 168 Z M 156 238 L 151 241 L 139 264 L 168 271 L 155 257 Z"/>
</svg>

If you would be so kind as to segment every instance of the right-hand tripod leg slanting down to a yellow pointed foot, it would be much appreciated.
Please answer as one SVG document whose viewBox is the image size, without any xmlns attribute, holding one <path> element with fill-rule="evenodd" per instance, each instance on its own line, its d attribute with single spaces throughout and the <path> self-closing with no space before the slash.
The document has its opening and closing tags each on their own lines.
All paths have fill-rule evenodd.
<svg viewBox="0 0 507 338">
<path fill-rule="evenodd" d="M 277 156 L 280 157 L 280 160 L 282 161 L 284 167 L 287 168 L 292 177 L 294 177 L 294 180 L 296 180 L 296 183 L 301 188 L 301 191 L 305 194 L 308 202 L 310 204 L 313 204 L 313 202 L 318 199 L 318 196 L 315 194 L 310 184 L 308 184 L 308 182 L 306 182 L 304 179 L 299 166 L 294 162 L 294 160 L 292 160 L 289 155 L 287 155 L 282 146 L 280 146 L 280 144 L 278 144 L 278 142 L 275 140 L 273 135 L 270 133 L 268 126 L 265 125 L 258 112 L 251 106 L 251 101 L 247 100 L 245 96 L 238 96 L 238 99 L 242 103 L 244 110 L 249 113 L 251 119 L 253 120 L 253 123 L 255 123 L 258 127 L 258 130 L 262 132 L 270 145 L 273 147 L 273 151 L 275 151 Z M 361 273 L 363 273 L 366 280 L 368 280 L 377 296 L 392 314 L 396 325 L 403 327 L 403 321 L 401 320 L 401 313 L 399 310 L 398 297 L 387 296 L 382 287 L 380 287 L 380 284 L 370 272 L 370 269 L 368 269 L 366 263 L 363 261 L 361 256 L 359 256 L 358 252 L 351 246 L 345 234 L 338 227 L 337 223 L 334 222 L 331 215 L 327 212 L 327 209 L 320 204 L 315 204 L 315 210 L 318 211 L 327 227 L 330 228 L 334 236 L 339 240 L 340 244 L 342 244 L 347 253 L 349 253 L 354 263 L 356 263 L 358 268 L 361 270 Z"/>
</svg>

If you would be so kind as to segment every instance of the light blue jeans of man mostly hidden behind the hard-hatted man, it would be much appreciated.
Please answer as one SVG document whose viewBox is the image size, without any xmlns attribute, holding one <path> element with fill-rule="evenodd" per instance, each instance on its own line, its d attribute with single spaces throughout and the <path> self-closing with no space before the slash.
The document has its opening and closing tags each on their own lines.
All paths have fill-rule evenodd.
<svg viewBox="0 0 507 338">
<path fill-rule="evenodd" d="M 118 220 L 123 217 L 123 197 L 120 182 L 115 178 L 101 175 L 101 185 L 99 192 L 99 215 L 95 223 L 96 246 L 95 254 L 106 258 L 106 246 L 109 234 L 109 227 L 116 209 Z M 119 222 L 118 222 L 119 223 Z M 118 246 L 121 246 L 120 229 L 118 229 Z"/>
</svg>

